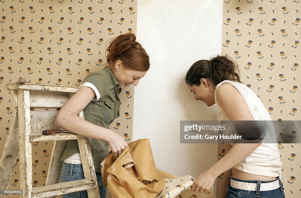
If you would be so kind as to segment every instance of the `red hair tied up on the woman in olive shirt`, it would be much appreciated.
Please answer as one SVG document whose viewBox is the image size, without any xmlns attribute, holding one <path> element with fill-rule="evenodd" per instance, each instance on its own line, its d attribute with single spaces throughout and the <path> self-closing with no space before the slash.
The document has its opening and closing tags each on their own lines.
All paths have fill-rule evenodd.
<svg viewBox="0 0 301 198">
<path fill-rule="evenodd" d="M 121 60 L 124 67 L 130 70 L 147 71 L 150 67 L 149 56 L 136 41 L 132 33 L 119 35 L 112 40 L 106 51 L 109 65 Z"/>
</svg>

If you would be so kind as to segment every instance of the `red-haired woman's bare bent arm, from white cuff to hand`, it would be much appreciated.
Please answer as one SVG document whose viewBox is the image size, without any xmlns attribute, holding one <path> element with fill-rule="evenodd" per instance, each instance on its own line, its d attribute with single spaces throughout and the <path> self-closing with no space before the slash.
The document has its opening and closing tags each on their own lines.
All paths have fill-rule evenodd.
<svg viewBox="0 0 301 198">
<path fill-rule="evenodd" d="M 126 140 L 110 129 L 94 125 L 78 116 L 79 112 L 94 97 L 95 92 L 92 88 L 81 87 L 57 113 L 54 125 L 82 136 L 107 141 L 114 156 L 117 158 L 128 146 Z"/>
</svg>

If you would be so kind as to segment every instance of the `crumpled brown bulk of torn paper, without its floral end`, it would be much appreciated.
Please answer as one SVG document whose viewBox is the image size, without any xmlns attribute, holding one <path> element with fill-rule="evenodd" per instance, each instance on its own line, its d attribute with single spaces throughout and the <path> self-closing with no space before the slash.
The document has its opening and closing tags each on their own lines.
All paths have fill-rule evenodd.
<svg viewBox="0 0 301 198">
<path fill-rule="evenodd" d="M 165 186 L 165 178 L 157 172 L 148 139 L 129 143 L 129 147 L 115 159 L 112 152 L 104 160 L 103 183 L 113 198 L 153 198 Z"/>
</svg>

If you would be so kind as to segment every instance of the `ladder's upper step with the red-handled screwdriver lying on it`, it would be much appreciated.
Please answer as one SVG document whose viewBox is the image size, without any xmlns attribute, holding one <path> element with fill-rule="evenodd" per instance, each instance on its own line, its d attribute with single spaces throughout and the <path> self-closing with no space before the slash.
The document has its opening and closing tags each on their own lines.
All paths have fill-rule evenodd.
<svg viewBox="0 0 301 198">
<path fill-rule="evenodd" d="M 59 133 L 53 135 L 30 135 L 29 141 L 30 142 L 37 142 L 37 141 L 53 141 L 53 140 L 78 140 L 78 139 L 85 139 L 85 136 L 77 135 L 74 133 Z"/>
</svg>

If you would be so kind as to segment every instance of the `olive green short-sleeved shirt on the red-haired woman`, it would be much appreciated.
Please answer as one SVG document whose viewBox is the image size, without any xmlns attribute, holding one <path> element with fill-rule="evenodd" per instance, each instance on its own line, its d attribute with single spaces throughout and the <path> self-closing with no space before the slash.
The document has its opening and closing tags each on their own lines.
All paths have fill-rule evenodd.
<svg viewBox="0 0 301 198">
<path fill-rule="evenodd" d="M 100 94 L 98 101 L 91 101 L 84 108 L 85 120 L 95 125 L 109 128 L 110 124 L 119 117 L 120 99 L 118 97 L 121 92 L 120 85 L 113 75 L 112 70 L 105 66 L 103 70 L 88 74 L 82 83 L 92 83 Z M 101 172 L 100 163 L 109 153 L 108 143 L 103 140 L 89 138 L 95 171 Z M 77 140 L 68 140 L 67 147 L 61 158 L 63 161 L 67 157 L 79 153 Z"/>
</svg>

